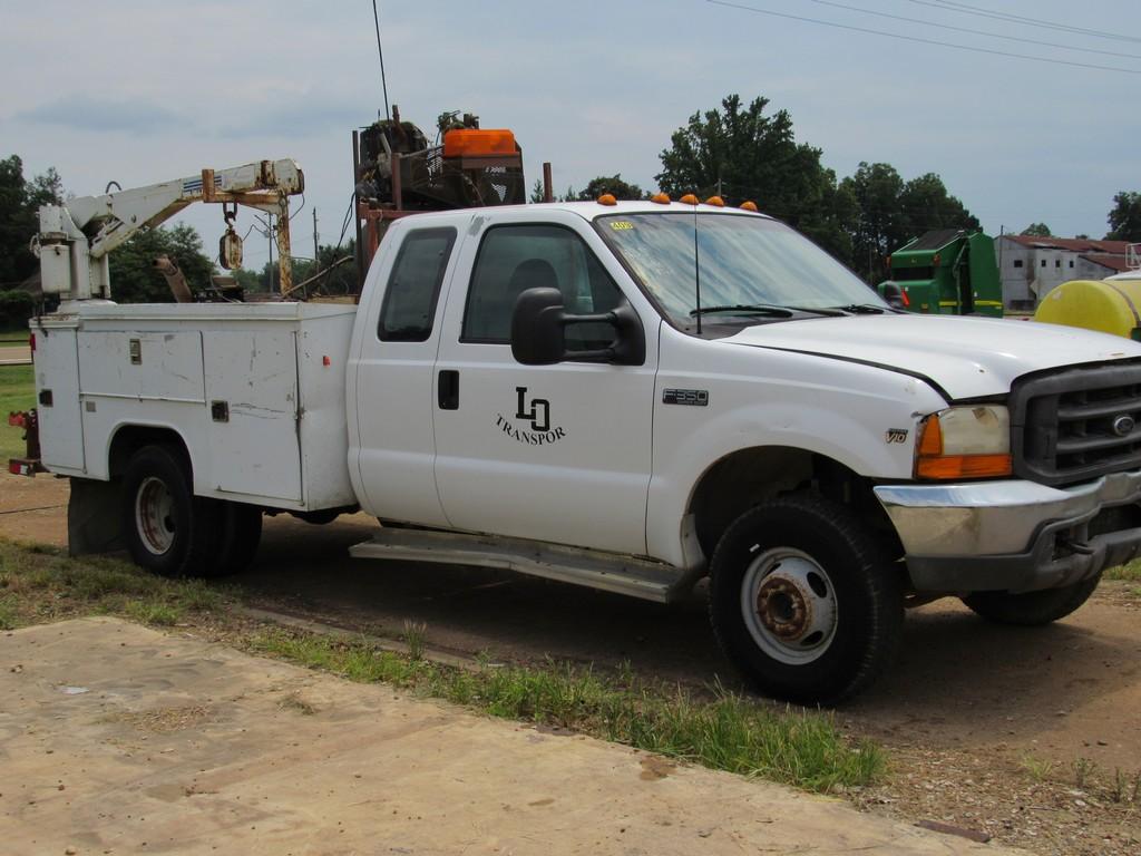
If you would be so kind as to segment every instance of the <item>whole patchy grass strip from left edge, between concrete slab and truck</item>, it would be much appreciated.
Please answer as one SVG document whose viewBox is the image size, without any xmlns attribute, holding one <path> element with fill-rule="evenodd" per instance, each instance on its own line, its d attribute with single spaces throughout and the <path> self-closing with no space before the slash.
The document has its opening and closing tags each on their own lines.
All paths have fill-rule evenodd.
<svg viewBox="0 0 1141 856">
<path fill-rule="evenodd" d="M 189 624 L 221 632 L 254 654 L 402 687 L 474 711 L 590 734 L 714 769 L 830 792 L 883 777 L 887 757 L 845 737 L 826 713 L 779 709 L 714 687 L 693 693 L 646 680 L 628 668 L 604 675 L 549 661 L 471 669 L 424 659 L 426 628 L 405 628 L 412 655 L 365 638 L 333 638 L 256 624 L 234 607 L 235 592 L 192 580 L 164 580 L 105 557 L 70 559 L 62 550 L 0 539 L 0 629 L 82 615 L 119 615 L 155 627 Z M 304 700 L 286 702 L 309 716 Z"/>
</svg>

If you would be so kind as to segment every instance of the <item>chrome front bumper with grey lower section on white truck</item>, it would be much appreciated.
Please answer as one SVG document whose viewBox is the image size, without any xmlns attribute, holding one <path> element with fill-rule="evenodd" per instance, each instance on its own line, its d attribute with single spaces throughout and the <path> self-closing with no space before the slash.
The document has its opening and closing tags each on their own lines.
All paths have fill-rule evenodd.
<svg viewBox="0 0 1141 856">
<path fill-rule="evenodd" d="M 1141 470 L 1071 487 L 1034 482 L 880 485 L 920 591 L 1031 591 L 1068 586 L 1141 552 Z M 1092 524 L 1092 526 L 1091 526 Z"/>
</svg>

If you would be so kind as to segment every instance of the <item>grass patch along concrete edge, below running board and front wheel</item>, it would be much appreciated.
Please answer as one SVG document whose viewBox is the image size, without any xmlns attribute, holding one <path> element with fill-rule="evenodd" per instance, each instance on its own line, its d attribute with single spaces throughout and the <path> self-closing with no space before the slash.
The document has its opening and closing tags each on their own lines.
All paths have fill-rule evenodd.
<svg viewBox="0 0 1141 856">
<path fill-rule="evenodd" d="M 246 645 L 349 680 L 395 684 L 494 717 L 592 734 L 809 791 L 865 785 L 885 769 L 879 746 L 850 742 L 827 714 L 774 709 L 720 688 L 712 698 L 698 698 L 679 687 L 630 676 L 609 679 L 590 668 L 553 662 L 466 671 L 383 651 L 365 639 L 345 641 L 292 629 L 261 630 Z"/>
</svg>

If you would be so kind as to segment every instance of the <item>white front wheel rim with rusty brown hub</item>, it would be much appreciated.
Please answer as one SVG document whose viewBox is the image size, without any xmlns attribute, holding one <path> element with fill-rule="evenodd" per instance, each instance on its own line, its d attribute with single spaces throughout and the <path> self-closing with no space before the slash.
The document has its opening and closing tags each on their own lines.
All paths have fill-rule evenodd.
<svg viewBox="0 0 1141 856">
<path fill-rule="evenodd" d="M 832 580 L 811 556 L 790 547 L 766 550 L 750 563 L 741 613 L 756 646 L 787 665 L 818 660 L 836 635 Z"/>
</svg>

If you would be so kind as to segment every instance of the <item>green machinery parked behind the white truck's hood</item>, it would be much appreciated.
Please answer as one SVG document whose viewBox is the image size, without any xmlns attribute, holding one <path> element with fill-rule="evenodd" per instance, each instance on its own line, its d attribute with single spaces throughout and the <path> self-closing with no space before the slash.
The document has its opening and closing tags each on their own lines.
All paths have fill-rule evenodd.
<svg viewBox="0 0 1141 856">
<path fill-rule="evenodd" d="M 891 253 L 888 264 L 891 278 L 876 291 L 909 312 L 1002 317 L 994 239 L 981 232 L 928 232 Z"/>
</svg>

